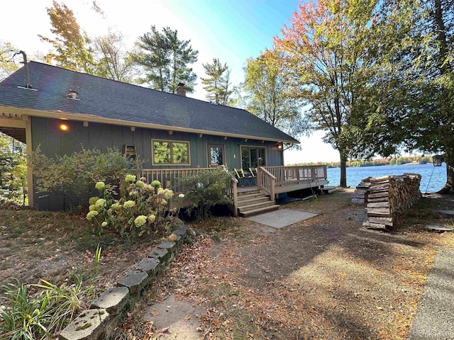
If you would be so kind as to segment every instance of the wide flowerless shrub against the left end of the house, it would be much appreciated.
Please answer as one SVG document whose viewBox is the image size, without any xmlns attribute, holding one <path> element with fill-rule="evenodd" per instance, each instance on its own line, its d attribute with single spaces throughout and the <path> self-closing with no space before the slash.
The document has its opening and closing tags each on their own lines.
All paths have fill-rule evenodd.
<svg viewBox="0 0 454 340">
<path fill-rule="evenodd" d="M 143 162 L 131 162 L 115 148 L 105 153 L 82 148 L 79 152 L 52 158 L 41 154 L 38 147 L 28 163 L 36 176 L 37 193 L 55 193 L 77 206 L 87 202 L 95 182 L 107 183 L 107 188 L 116 193 L 121 179 L 128 173 L 137 173 Z"/>
</svg>

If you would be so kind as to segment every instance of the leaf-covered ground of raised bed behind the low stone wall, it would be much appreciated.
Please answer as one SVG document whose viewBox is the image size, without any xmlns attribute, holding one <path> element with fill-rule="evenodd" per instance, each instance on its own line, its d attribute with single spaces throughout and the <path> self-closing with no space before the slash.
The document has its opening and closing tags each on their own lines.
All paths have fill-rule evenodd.
<svg viewBox="0 0 454 340">
<path fill-rule="evenodd" d="M 18 278 L 23 283 L 70 284 L 74 274 L 91 283 L 96 246 L 101 263 L 96 279 L 100 289 L 112 286 L 148 255 L 159 237 L 138 242 L 113 233 L 92 233 L 84 214 L 45 212 L 0 206 L 0 285 Z"/>
</svg>

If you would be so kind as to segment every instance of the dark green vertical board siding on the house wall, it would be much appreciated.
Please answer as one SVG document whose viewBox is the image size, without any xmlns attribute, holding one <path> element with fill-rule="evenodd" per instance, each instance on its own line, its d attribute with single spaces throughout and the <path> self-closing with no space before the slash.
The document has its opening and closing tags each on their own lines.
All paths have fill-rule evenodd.
<svg viewBox="0 0 454 340">
<path fill-rule="evenodd" d="M 60 124 L 68 126 L 67 131 L 60 130 Z M 225 161 L 228 169 L 241 167 L 240 146 L 266 147 L 267 166 L 283 165 L 282 151 L 277 149 L 276 142 L 263 142 L 261 140 L 245 141 L 242 138 L 206 135 L 201 137 L 196 133 L 172 132 L 166 130 L 152 130 L 135 128 L 132 131 L 128 126 L 89 123 L 84 126 L 82 121 L 59 120 L 51 118 L 31 117 L 32 149 L 39 146 L 40 152 L 48 157 L 55 155 L 72 154 L 74 151 L 84 149 L 100 149 L 106 152 L 109 148 L 118 148 L 123 152 L 124 145 L 135 145 L 139 159 L 145 160 L 145 169 L 177 169 L 208 167 L 208 145 L 223 145 Z M 151 142 L 152 140 L 175 140 L 189 142 L 189 165 L 154 165 L 152 166 Z M 61 210 L 62 198 L 55 196 L 40 197 L 35 193 L 35 208 L 43 210 Z"/>
</svg>

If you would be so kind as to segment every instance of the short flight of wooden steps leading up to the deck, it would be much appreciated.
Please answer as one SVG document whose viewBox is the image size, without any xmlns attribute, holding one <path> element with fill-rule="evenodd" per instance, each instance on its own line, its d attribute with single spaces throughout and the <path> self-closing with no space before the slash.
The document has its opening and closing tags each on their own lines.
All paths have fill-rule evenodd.
<svg viewBox="0 0 454 340">
<path fill-rule="evenodd" d="M 238 194 L 238 215 L 250 217 L 279 209 L 279 205 L 260 191 L 245 191 Z"/>
</svg>

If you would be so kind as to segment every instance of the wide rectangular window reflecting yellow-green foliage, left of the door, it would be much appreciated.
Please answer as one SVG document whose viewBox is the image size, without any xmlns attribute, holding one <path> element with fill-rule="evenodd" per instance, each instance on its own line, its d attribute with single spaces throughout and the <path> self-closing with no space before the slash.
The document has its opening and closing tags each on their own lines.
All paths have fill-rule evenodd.
<svg viewBox="0 0 454 340">
<path fill-rule="evenodd" d="M 189 165 L 189 142 L 153 140 L 153 164 Z"/>
</svg>

